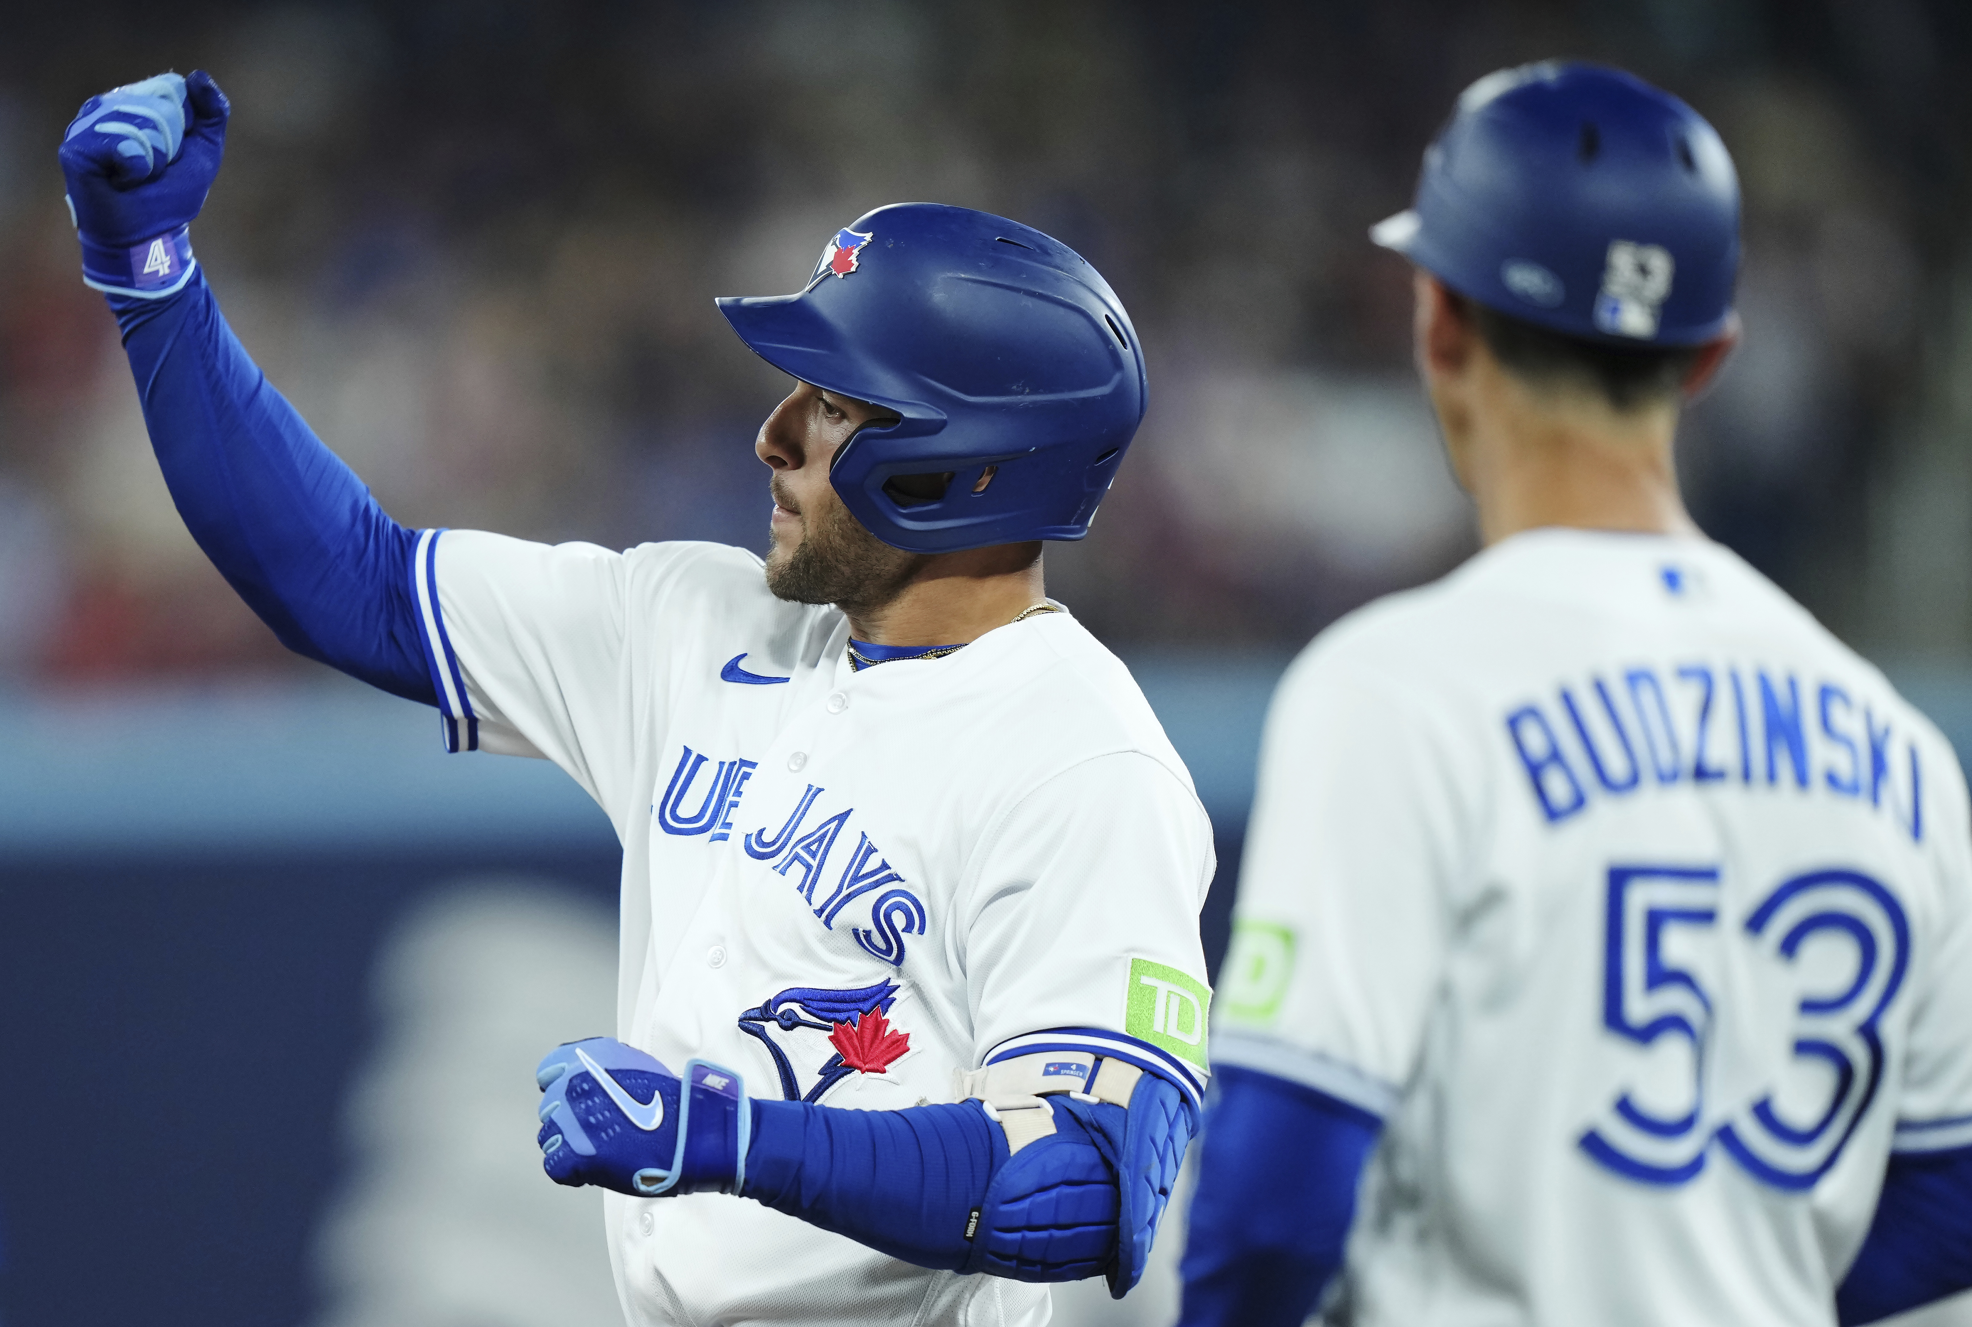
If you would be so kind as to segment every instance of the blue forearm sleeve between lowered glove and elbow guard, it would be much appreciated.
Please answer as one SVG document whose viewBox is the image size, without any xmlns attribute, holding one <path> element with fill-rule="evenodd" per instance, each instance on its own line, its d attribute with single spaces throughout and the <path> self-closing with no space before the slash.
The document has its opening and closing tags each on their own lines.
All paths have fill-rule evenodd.
<svg viewBox="0 0 1972 1327">
<path fill-rule="evenodd" d="M 838 1110 L 755 1100 L 745 1197 L 921 1268 L 956 1272 L 1006 1136 L 976 1102 Z"/>
</svg>

